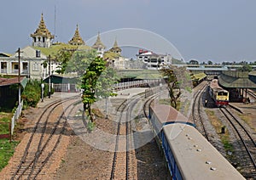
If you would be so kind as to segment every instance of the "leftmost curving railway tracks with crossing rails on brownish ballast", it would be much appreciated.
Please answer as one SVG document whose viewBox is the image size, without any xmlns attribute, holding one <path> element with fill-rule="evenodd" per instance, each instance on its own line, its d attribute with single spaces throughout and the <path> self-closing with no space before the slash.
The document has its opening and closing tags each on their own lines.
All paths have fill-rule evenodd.
<svg viewBox="0 0 256 180">
<path fill-rule="evenodd" d="M 79 96 L 63 98 L 46 107 L 33 127 L 24 154 L 11 179 L 36 179 L 38 177 L 61 142 L 61 137 L 67 127 L 65 113 L 73 110 L 72 106 L 78 98 Z M 63 105 L 67 107 L 61 110 L 61 115 L 58 116 L 56 113 L 63 108 Z M 58 116 L 57 120 L 55 116 Z"/>
</svg>

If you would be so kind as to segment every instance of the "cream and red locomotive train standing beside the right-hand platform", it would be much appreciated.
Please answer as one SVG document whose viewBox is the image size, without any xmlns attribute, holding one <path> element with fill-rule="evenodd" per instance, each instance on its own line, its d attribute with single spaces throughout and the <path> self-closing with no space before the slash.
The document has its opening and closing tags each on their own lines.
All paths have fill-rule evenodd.
<svg viewBox="0 0 256 180">
<path fill-rule="evenodd" d="M 218 79 L 212 79 L 209 86 L 209 94 L 218 107 L 229 104 L 229 92 L 218 85 Z"/>
</svg>

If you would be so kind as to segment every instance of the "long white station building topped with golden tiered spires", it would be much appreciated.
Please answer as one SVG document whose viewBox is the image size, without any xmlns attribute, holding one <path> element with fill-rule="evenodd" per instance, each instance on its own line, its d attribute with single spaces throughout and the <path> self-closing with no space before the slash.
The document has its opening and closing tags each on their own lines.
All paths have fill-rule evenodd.
<svg viewBox="0 0 256 180">
<path fill-rule="evenodd" d="M 30 37 L 32 37 L 32 46 L 20 49 L 20 67 L 18 53 L 0 53 L 0 75 L 18 76 L 20 69 L 21 76 L 32 79 L 44 79 L 49 76 L 49 69 L 51 75 L 56 74 L 55 70 L 58 70 L 60 62 L 57 61 L 58 59 L 55 59 L 55 54 L 60 49 L 65 48 L 73 51 L 78 46 L 82 46 L 83 49 L 94 48 L 100 57 L 108 53 L 108 58 L 106 58 L 108 65 L 112 65 L 117 69 L 127 68 L 128 59 L 121 57 L 122 50 L 119 48 L 116 39 L 113 47 L 106 51 L 106 46 L 102 43 L 100 33 L 98 33 L 94 45 L 92 47 L 86 46 L 83 38 L 80 36 L 79 25 L 77 25 L 74 35 L 68 43 L 52 43 L 55 36 L 47 29 L 44 22 L 44 14 L 41 14 L 38 28 Z M 48 65 L 49 59 L 50 65 Z"/>
</svg>

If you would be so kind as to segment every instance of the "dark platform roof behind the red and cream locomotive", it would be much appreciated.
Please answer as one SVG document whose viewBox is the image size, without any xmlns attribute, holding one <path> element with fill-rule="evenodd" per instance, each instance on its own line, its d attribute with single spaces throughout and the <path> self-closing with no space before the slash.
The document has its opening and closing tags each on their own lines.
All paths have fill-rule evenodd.
<svg viewBox="0 0 256 180">
<path fill-rule="evenodd" d="M 218 82 L 229 88 L 256 88 L 256 84 L 248 78 L 248 73 L 225 72 L 218 76 Z"/>
</svg>

